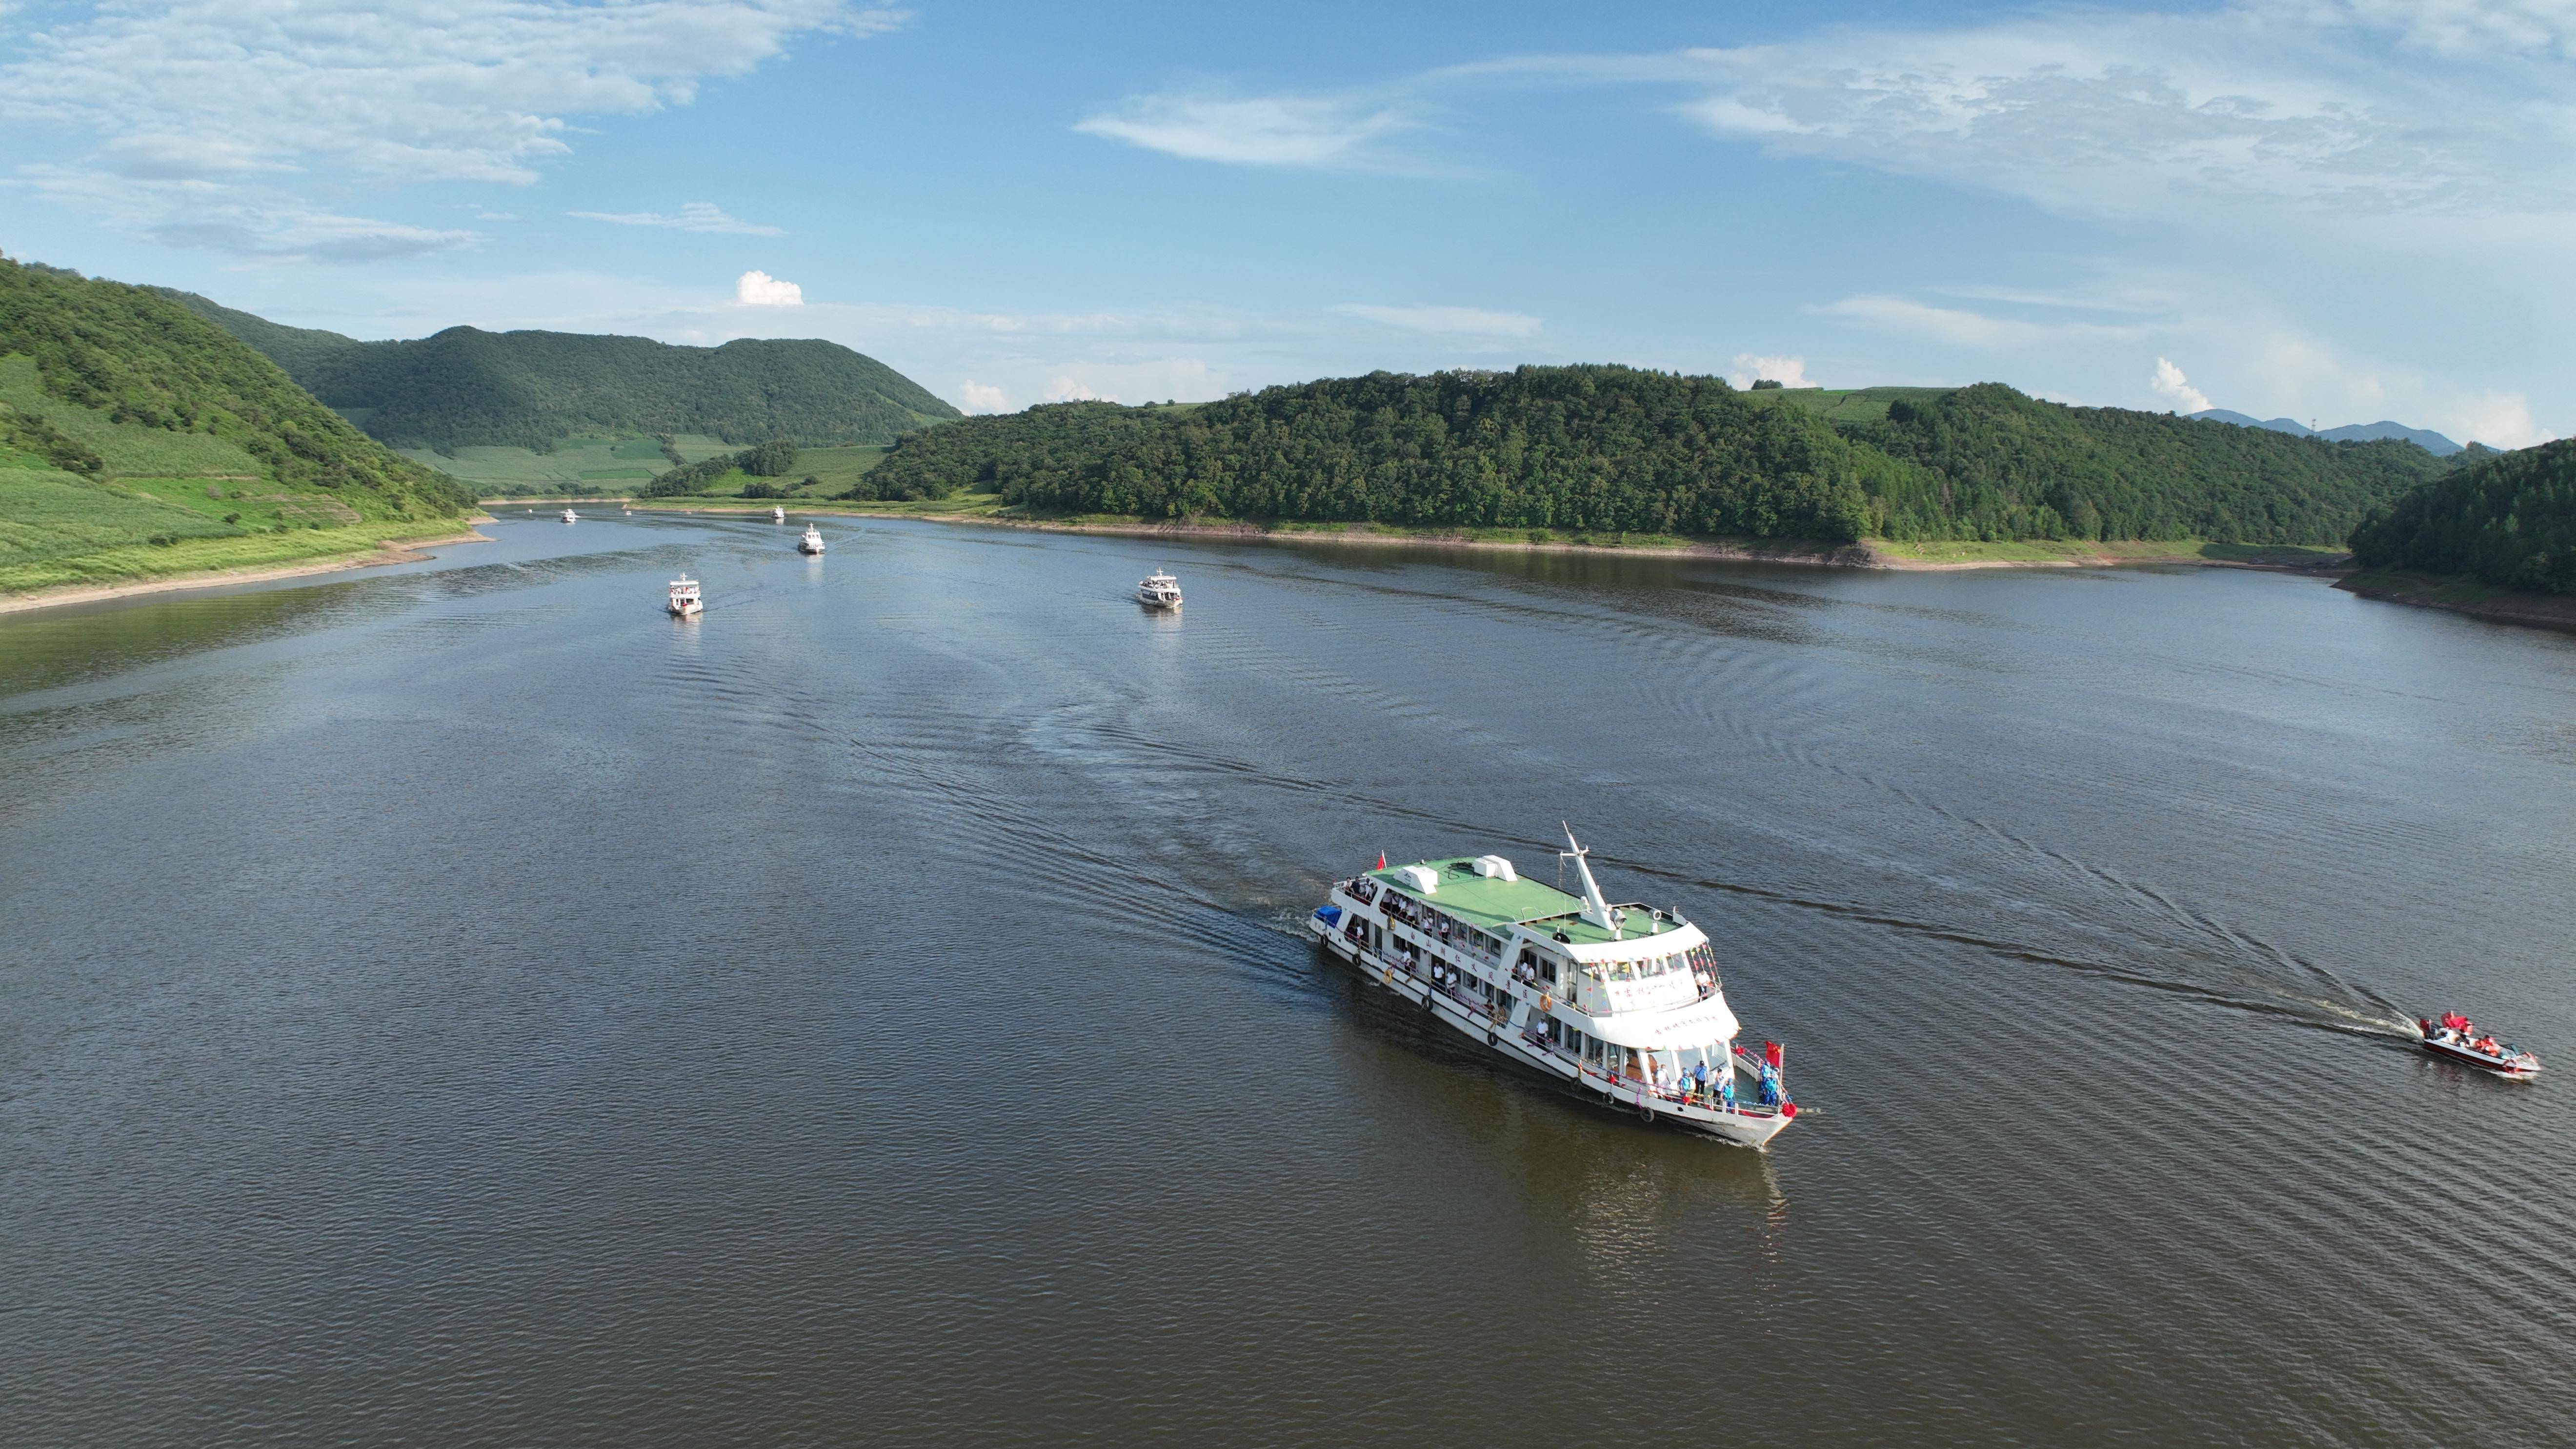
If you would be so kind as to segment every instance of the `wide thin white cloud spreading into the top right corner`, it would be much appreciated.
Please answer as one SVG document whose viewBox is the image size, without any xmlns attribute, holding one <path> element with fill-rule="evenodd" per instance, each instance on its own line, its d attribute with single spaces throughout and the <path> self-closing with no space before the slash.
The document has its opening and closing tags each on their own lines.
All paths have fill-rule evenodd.
<svg viewBox="0 0 2576 1449">
<path fill-rule="evenodd" d="M 2244 0 L 1821 28 L 1690 52 L 1708 85 L 1682 113 L 1772 152 L 2079 217 L 2568 214 L 2555 157 L 2576 85 L 2512 46 L 2563 44 L 2571 21 L 2558 0 Z M 2391 57 L 2388 31 L 2478 70 Z"/>
</svg>

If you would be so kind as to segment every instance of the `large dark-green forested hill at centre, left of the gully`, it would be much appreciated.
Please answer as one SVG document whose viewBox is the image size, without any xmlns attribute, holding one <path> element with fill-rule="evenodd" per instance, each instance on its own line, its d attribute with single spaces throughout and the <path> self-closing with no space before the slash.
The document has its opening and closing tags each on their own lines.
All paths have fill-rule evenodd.
<svg viewBox="0 0 2576 1449">
<path fill-rule="evenodd" d="M 878 498 L 1072 513 L 1855 539 L 1888 462 L 1718 379 L 1618 366 L 1370 374 L 1193 410 L 1066 402 L 902 438 Z"/>
</svg>

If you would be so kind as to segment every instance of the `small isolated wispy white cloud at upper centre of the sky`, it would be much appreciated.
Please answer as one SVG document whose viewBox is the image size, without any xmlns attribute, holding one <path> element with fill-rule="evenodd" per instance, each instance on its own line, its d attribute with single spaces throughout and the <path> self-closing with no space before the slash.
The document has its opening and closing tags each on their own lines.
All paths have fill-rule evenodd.
<svg viewBox="0 0 2576 1449">
<path fill-rule="evenodd" d="M 1229 165 L 1406 170 L 1383 142 L 1417 124 L 1401 106 L 1352 95 L 1136 95 L 1074 129 Z"/>
</svg>

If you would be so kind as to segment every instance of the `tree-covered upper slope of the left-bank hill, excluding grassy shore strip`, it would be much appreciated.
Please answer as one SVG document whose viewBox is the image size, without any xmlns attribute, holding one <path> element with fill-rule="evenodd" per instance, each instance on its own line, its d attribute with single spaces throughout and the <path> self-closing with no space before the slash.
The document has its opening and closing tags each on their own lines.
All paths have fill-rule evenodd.
<svg viewBox="0 0 2576 1449">
<path fill-rule="evenodd" d="M 144 286 L 0 258 L 0 358 L 33 392 L 0 402 L 0 433 L 75 474 L 170 474 L 198 454 L 270 482 L 412 516 L 471 503 L 446 477 L 319 405 L 268 358 Z M 26 364 L 21 364 L 26 366 Z"/>
</svg>

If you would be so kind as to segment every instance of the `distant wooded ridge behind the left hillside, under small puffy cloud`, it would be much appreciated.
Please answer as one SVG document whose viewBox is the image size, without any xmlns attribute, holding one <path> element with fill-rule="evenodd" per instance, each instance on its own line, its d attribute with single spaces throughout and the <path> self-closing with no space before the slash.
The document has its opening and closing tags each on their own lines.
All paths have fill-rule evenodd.
<svg viewBox="0 0 2576 1449">
<path fill-rule="evenodd" d="M 193 291 L 157 289 L 250 343 L 368 436 L 443 454 L 546 451 L 598 433 L 708 433 L 726 443 L 891 443 L 958 410 L 891 366 L 827 340 L 685 348 L 590 333 L 448 327 L 363 343 L 286 327 Z"/>
</svg>

